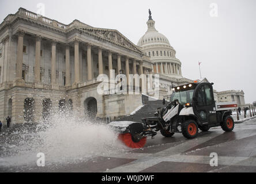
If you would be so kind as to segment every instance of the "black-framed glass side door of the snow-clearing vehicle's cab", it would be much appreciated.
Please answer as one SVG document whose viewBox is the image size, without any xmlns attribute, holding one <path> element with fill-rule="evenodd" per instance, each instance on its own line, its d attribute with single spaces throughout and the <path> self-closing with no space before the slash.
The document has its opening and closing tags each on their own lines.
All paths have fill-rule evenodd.
<svg viewBox="0 0 256 184">
<path fill-rule="evenodd" d="M 217 123 L 216 106 L 213 95 L 213 84 L 198 83 L 193 94 L 193 112 L 201 125 Z"/>
</svg>

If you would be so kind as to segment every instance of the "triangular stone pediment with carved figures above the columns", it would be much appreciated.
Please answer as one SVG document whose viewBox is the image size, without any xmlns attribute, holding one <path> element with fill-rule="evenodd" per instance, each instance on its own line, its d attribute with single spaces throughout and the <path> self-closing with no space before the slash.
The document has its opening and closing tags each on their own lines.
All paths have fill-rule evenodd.
<svg viewBox="0 0 256 184">
<path fill-rule="evenodd" d="M 137 45 L 133 44 L 129 39 L 127 39 L 123 34 L 114 29 L 101 29 L 101 28 L 80 28 L 85 32 L 91 33 L 94 36 L 101 37 L 111 41 L 112 43 L 122 45 L 123 47 L 129 48 L 133 51 L 142 53 L 141 49 Z"/>
</svg>

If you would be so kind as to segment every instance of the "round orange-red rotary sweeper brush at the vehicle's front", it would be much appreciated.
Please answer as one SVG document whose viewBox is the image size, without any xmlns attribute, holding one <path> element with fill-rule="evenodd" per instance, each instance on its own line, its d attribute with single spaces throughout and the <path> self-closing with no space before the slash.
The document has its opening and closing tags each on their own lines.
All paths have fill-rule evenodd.
<svg viewBox="0 0 256 184">
<path fill-rule="evenodd" d="M 146 144 L 146 137 L 135 143 L 130 133 L 119 134 L 118 139 L 121 139 L 129 148 L 143 148 Z"/>
</svg>

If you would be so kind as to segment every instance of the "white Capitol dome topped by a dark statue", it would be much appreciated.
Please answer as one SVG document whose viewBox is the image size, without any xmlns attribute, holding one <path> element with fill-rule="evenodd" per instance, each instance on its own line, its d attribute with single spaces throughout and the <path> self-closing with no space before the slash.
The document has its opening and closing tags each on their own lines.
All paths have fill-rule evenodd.
<svg viewBox="0 0 256 184">
<path fill-rule="evenodd" d="M 146 56 L 150 57 L 155 74 L 182 78 L 181 62 L 176 58 L 176 51 L 171 47 L 169 40 L 155 29 L 155 21 L 149 10 L 149 20 L 146 22 L 148 30 L 138 41 L 138 46 Z"/>
</svg>

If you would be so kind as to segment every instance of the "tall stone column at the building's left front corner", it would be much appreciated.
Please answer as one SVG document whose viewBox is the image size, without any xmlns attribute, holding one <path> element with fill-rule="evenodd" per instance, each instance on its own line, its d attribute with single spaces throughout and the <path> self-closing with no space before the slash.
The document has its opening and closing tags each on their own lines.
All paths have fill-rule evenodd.
<svg viewBox="0 0 256 184">
<path fill-rule="evenodd" d="M 25 32 L 20 31 L 18 33 L 18 46 L 17 46 L 17 63 L 16 63 L 16 79 L 14 86 L 24 86 L 24 80 L 22 79 L 22 64 L 23 64 L 23 38 Z"/>
</svg>

